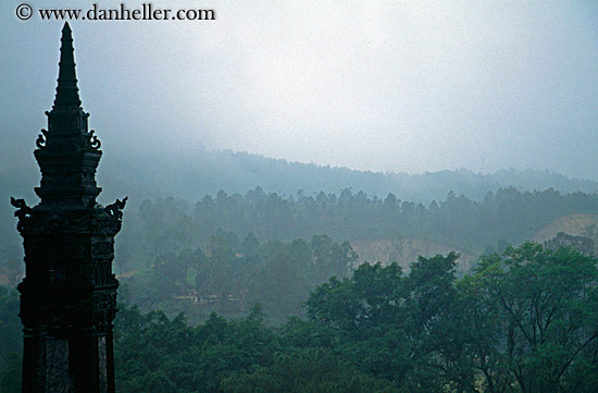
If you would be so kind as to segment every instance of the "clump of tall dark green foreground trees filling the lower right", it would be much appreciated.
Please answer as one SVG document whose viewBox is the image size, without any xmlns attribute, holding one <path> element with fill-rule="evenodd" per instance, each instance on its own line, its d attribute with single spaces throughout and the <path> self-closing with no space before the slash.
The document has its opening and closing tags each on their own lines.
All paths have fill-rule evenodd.
<svg viewBox="0 0 598 393">
<path fill-rule="evenodd" d="M 595 392 L 596 259 L 526 243 L 456 280 L 454 255 L 360 267 L 308 302 L 360 368 L 406 391 Z"/>
</svg>

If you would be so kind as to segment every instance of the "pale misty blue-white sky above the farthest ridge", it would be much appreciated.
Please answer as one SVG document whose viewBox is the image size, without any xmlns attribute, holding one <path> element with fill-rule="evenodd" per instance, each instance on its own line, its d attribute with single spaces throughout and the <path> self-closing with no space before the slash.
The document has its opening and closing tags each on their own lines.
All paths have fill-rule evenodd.
<svg viewBox="0 0 598 393">
<path fill-rule="evenodd" d="M 0 3 L 4 169 L 13 155 L 35 165 L 58 76 L 62 22 L 18 21 L 20 2 Z M 211 8 L 216 21 L 71 22 L 83 107 L 116 159 L 232 149 L 374 171 L 598 180 L 596 1 L 152 4 Z"/>
</svg>

